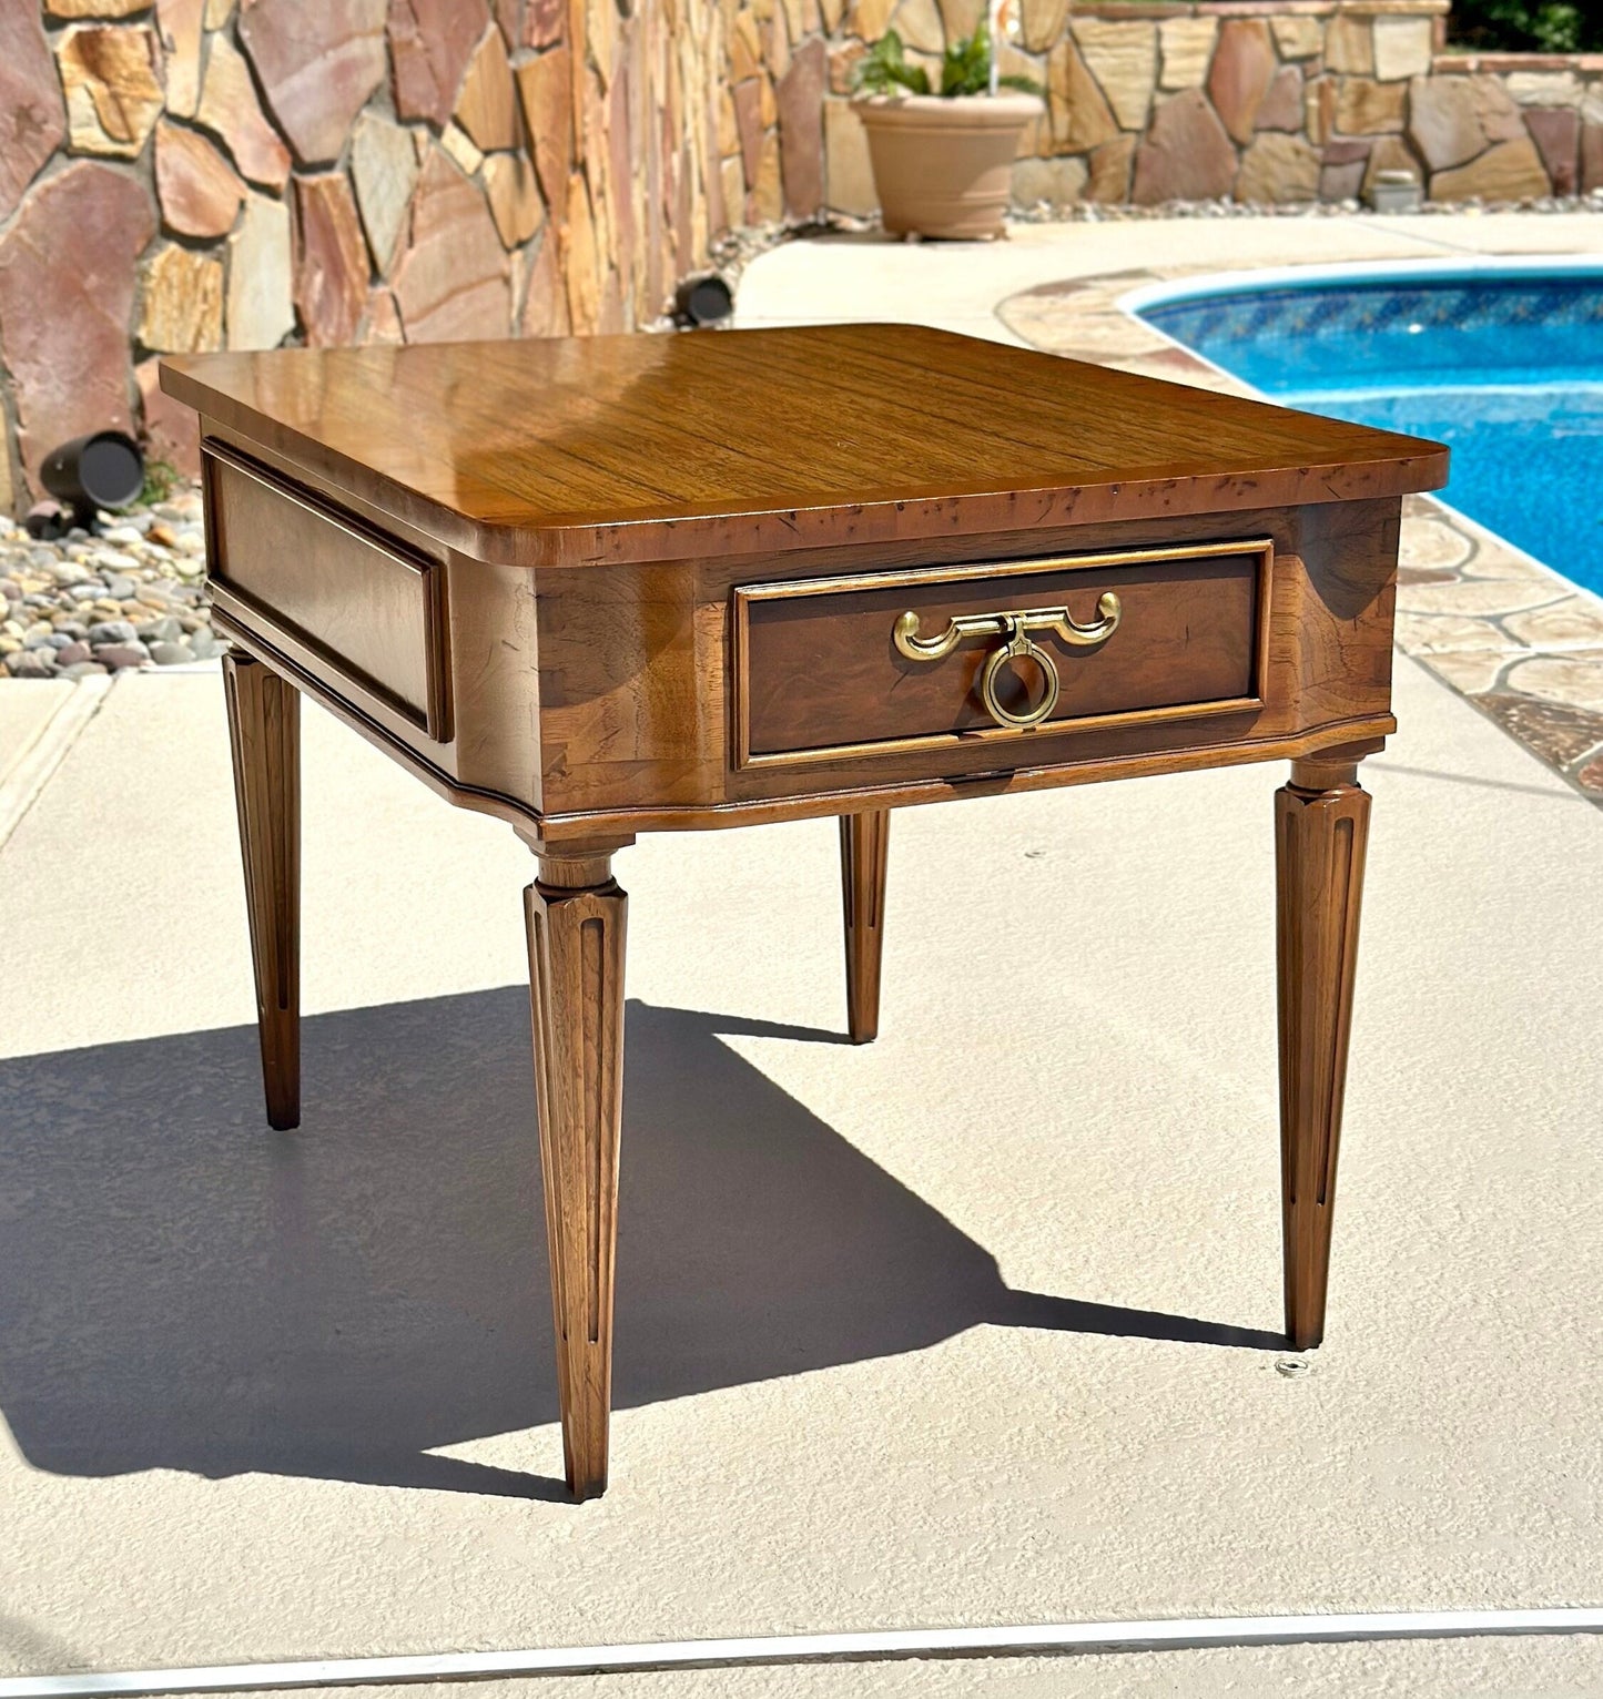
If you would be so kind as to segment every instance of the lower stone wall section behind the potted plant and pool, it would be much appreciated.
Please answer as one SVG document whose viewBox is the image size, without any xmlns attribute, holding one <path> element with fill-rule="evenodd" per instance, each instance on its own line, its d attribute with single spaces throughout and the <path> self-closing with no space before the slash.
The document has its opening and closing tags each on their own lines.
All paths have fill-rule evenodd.
<svg viewBox="0 0 1603 1699">
<path fill-rule="evenodd" d="M 1448 0 L 1015 3 L 1006 68 L 1047 92 L 1013 172 L 1025 206 L 1346 200 L 1382 170 L 1413 172 L 1435 200 L 1603 187 L 1603 56 L 1447 54 Z M 874 204 L 852 61 L 886 27 L 935 54 L 974 10 L 853 0 L 830 48 L 831 207 Z"/>
</svg>

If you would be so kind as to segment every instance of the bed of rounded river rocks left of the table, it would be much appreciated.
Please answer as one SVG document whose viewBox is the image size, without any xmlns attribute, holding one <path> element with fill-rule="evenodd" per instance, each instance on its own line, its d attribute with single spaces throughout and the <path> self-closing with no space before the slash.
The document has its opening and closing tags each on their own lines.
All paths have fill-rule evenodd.
<svg viewBox="0 0 1603 1699">
<path fill-rule="evenodd" d="M 100 513 L 56 542 L 0 515 L 0 676 L 83 678 L 211 661 L 201 494 Z"/>
</svg>

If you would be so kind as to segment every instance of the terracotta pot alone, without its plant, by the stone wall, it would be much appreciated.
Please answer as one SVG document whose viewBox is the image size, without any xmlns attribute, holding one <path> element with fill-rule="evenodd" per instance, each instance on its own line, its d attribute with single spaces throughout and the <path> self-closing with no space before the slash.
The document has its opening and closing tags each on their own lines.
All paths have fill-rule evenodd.
<svg viewBox="0 0 1603 1699">
<path fill-rule="evenodd" d="M 867 95 L 852 105 L 892 236 L 1001 234 L 1018 138 L 1040 116 L 1035 95 Z"/>
</svg>

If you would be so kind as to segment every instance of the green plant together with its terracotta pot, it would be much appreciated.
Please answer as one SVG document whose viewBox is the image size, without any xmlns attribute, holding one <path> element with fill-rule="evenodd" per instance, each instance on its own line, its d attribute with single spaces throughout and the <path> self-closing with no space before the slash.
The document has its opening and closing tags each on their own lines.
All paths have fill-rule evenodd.
<svg viewBox="0 0 1603 1699">
<path fill-rule="evenodd" d="M 852 90 L 887 233 L 1001 234 L 1018 138 L 1040 116 L 1042 90 L 996 73 L 988 22 L 942 54 L 938 88 L 886 31 L 857 61 Z"/>
</svg>

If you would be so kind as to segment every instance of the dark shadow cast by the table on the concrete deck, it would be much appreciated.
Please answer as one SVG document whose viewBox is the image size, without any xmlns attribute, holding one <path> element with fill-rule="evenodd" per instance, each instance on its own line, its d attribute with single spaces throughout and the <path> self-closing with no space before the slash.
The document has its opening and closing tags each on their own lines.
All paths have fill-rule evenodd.
<svg viewBox="0 0 1603 1699">
<path fill-rule="evenodd" d="M 721 1035 L 631 1002 L 620 1408 L 991 1324 L 1280 1349 L 1278 1334 L 1013 1291 L 994 1257 Z M 274 1133 L 255 1031 L 0 1062 L 0 1412 L 65 1475 L 265 1471 L 518 1497 L 435 1448 L 554 1422 L 520 989 L 304 1026 Z"/>
</svg>

